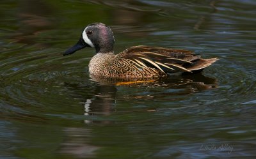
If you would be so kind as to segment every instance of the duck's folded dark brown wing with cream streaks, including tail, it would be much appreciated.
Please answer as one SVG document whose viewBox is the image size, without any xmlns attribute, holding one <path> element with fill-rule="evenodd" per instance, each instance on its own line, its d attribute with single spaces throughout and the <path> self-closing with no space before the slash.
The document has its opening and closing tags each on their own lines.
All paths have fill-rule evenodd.
<svg viewBox="0 0 256 159">
<path fill-rule="evenodd" d="M 140 68 L 156 68 L 164 73 L 202 70 L 218 60 L 217 58 L 202 59 L 188 50 L 143 45 L 130 47 L 120 52 L 117 57 L 129 59 Z"/>
</svg>

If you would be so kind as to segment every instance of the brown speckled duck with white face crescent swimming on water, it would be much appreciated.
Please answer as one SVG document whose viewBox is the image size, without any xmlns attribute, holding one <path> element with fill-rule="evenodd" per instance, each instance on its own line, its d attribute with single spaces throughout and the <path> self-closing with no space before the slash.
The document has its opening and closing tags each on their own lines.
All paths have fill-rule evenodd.
<svg viewBox="0 0 256 159">
<path fill-rule="evenodd" d="M 93 77 L 156 79 L 173 73 L 201 72 L 218 58 L 203 59 L 189 50 L 138 45 L 114 54 L 115 37 L 109 26 L 95 22 L 86 26 L 76 45 L 63 56 L 85 47 L 95 48 L 88 70 Z"/>
</svg>

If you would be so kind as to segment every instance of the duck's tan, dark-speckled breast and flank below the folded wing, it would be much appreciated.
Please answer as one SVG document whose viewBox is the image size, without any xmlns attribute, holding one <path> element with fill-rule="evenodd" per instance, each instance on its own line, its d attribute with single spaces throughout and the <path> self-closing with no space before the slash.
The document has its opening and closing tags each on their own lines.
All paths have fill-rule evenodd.
<svg viewBox="0 0 256 159">
<path fill-rule="evenodd" d="M 89 63 L 89 73 L 97 76 L 116 77 L 122 79 L 154 78 L 165 76 L 155 68 L 138 66 L 131 59 L 125 59 L 121 54 L 96 54 Z"/>
</svg>

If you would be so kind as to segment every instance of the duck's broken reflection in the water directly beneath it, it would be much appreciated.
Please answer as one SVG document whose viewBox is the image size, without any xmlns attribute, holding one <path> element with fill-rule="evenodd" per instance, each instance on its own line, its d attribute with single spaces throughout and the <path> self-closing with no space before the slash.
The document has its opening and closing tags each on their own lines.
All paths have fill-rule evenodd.
<svg viewBox="0 0 256 159">
<path fill-rule="evenodd" d="M 87 98 L 84 102 L 84 116 L 104 115 L 108 116 L 111 112 L 115 111 L 116 94 L 118 93 L 117 87 L 165 87 L 166 89 L 177 89 L 181 91 L 172 91 L 170 93 L 162 93 L 163 96 L 168 95 L 186 95 L 206 89 L 217 87 L 217 81 L 211 77 L 205 77 L 202 73 L 187 74 L 182 76 L 167 77 L 164 79 L 151 79 L 151 80 L 118 80 L 118 79 L 101 79 L 92 77 L 92 80 L 98 82 L 95 89 L 93 98 Z M 148 95 L 129 95 L 134 99 L 152 99 L 154 93 Z M 159 96 L 159 93 L 157 93 Z M 118 96 L 120 98 L 120 96 Z M 128 98 L 129 100 L 131 98 Z M 87 117 L 86 117 L 87 118 Z M 97 123 L 109 121 L 92 121 L 84 120 L 84 123 Z"/>
</svg>

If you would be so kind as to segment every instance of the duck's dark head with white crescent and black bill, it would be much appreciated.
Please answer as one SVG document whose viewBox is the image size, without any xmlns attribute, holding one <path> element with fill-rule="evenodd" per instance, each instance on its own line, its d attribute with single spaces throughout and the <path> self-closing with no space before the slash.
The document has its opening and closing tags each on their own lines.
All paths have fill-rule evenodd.
<svg viewBox="0 0 256 159">
<path fill-rule="evenodd" d="M 114 50 L 115 38 L 110 27 L 103 23 L 93 23 L 86 26 L 76 45 L 70 47 L 63 56 L 73 54 L 84 47 L 94 47 L 96 53 L 109 53 Z"/>
</svg>

